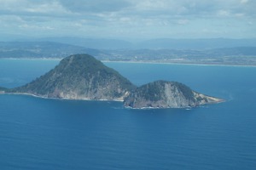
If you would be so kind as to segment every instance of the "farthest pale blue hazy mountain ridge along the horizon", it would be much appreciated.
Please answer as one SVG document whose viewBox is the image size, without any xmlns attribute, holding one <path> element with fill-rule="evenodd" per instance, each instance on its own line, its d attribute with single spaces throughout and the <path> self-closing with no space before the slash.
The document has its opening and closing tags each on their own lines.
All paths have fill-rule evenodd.
<svg viewBox="0 0 256 170">
<path fill-rule="evenodd" d="M 3 41 L 3 40 L 2 40 Z M 9 41 L 10 42 L 10 41 Z M 129 41 L 107 38 L 82 38 L 82 37 L 45 37 L 45 38 L 20 38 L 13 42 L 59 42 L 74 46 L 94 49 L 211 49 L 211 48 L 236 48 L 256 47 L 256 38 L 230 39 L 230 38 L 201 38 L 201 39 L 174 39 L 157 38 L 141 41 Z"/>
</svg>

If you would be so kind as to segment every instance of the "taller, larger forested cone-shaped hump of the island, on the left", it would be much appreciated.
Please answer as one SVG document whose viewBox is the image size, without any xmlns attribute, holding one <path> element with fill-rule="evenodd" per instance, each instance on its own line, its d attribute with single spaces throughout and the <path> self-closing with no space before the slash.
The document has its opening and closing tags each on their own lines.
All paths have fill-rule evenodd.
<svg viewBox="0 0 256 170">
<path fill-rule="evenodd" d="M 10 90 L 45 98 L 123 100 L 135 86 L 88 54 L 62 59 L 44 76 Z"/>
</svg>

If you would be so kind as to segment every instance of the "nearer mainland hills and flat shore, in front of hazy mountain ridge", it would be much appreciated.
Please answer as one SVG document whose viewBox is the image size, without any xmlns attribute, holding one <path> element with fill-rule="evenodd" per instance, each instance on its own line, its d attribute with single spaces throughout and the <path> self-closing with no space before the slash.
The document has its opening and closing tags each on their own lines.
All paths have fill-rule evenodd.
<svg viewBox="0 0 256 170">
<path fill-rule="evenodd" d="M 192 40 L 189 40 L 189 42 L 191 41 Z M 228 40 L 224 39 L 224 42 L 225 41 L 228 41 Z M 235 42 L 228 43 L 226 46 L 232 46 L 231 44 L 237 45 L 238 42 L 237 43 Z M 242 42 L 243 41 L 241 41 L 241 44 Z M 249 43 L 250 41 L 245 41 L 245 42 L 247 42 L 247 44 L 253 44 L 253 39 L 251 43 Z M 165 45 L 165 43 L 163 43 L 162 45 Z M 222 46 L 222 45 L 219 45 L 219 46 Z M 155 46 L 155 47 L 158 47 L 158 46 Z M 171 46 L 168 46 L 168 47 L 171 47 Z M 82 46 L 70 45 L 70 44 L 67 44 L 66 42 L 65 43 L 0 42 L 0 59 L 1 58 L 16 58 L 16 59 L 59 58 L 59 59 L 62 59 L 72 54 L 90 54 L 95 56 L 96 59 L 100 59 L 104 61 L 139 61 L 139 62 L 207 64 L 207 65 L 256 65 L 256 45 L 240 46 L 240 47 L 232 47 L 232 48 L 209 48 L 209 49 L 206 49 L 206 48 L 200 48 L 200 49 L 196 49 L 196 48 L 195 49 L 187 49 L 187 48 L 183 48 L 183 49 L 182 48 L 180 49 L 178 48 L 94 49 L 94 48 L 86 48 Z"/>
</svg>

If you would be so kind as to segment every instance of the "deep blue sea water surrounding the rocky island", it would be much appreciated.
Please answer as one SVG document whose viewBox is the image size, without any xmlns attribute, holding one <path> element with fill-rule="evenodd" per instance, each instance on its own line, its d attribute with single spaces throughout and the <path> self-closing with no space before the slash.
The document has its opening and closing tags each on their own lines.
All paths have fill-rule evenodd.
<svg viewBox="0 0 256 170">
<path fill-rule="evenodd" d="M 55 60 L 0 59 L 0 86 L 32 81 Z M 0 169 L 256 167 L 256 67 L 106 63 L 137 85 L 183 82 L 227 101 L 128 110 L 119 102 L 0 95 Z"/>
</svg>

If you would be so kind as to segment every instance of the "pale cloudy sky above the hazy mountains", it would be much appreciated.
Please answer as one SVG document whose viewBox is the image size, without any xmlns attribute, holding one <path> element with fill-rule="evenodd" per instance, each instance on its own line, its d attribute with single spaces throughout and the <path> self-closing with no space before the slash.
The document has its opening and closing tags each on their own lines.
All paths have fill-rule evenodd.
<svg viewBox="0 0 256 170">
<path fill-rule="evenodd" d="M 255 8 L 256 0 L 0 0 L 0 41 L 256 38 Z"/>
</svg>

